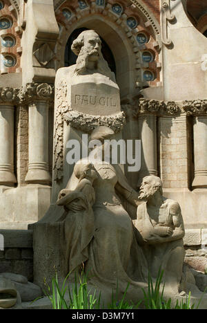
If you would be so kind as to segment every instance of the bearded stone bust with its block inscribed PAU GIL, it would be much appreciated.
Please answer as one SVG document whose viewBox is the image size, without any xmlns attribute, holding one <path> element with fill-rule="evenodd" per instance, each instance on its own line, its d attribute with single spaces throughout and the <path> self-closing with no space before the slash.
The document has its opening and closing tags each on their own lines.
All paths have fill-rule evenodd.
<svg viewBox="0 0 207 323">
<path fill-rule="evenodd" d="M 56 84 L 66 80 L 70 108 L 94 116 L 121 111 L 115 74 L 101 53 L 101 39 L 94 30 L 83 31 L 72 43 L 77 64 L 59 68 Z"/>
</svg>

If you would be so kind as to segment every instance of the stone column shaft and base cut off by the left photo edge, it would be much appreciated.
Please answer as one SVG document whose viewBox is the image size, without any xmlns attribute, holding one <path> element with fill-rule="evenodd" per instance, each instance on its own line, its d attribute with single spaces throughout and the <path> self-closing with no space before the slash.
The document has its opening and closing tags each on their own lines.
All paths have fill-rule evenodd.
<svg viewBox="0 0 207 323">
<path fill-rule="evenodd" d="M 14 106 L 0 104 L 0 185 L 12 186 L 14 176 Z"/>
</svg>

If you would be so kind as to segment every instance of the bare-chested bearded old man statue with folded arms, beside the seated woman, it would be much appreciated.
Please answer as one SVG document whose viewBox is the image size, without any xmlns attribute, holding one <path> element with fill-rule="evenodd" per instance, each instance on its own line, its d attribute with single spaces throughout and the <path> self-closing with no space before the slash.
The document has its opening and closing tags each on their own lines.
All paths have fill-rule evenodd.
<svg viewBox="0 0 207 323">
<path fill-rule="evenodd" d="M 179 293 L 184 264 L 184 222 L 179 203 L 162 195 L 161 179 L 146 176 L 140 187 L 135 227 L 144 239 L 144 255 L 152 278 L 159 268 L 164 270 L 163 281 L 168 293 Z"/>
</svg>

